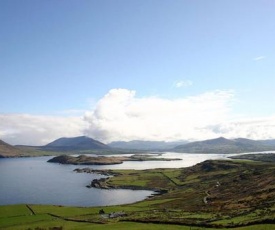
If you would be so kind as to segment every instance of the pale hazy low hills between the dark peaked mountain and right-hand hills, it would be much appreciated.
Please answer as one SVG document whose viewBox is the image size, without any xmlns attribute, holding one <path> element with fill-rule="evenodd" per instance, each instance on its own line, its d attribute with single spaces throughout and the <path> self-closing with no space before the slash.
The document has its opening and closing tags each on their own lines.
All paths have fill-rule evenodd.
<svg viewBox="0 0 275 230">
<path fill-rule="evenodd" d="M 165 150 L 172 149 L 178 145 L 186 143 L 185 141 L 166 142 L 166 141 L 115 141 L 108 144 L 112 148 L 135 149 L 135 150 Z"/>
</svg>

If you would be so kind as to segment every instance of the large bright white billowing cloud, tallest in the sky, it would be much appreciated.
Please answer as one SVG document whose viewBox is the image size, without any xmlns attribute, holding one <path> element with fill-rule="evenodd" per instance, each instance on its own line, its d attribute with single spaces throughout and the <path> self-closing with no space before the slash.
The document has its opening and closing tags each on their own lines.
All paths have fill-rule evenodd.
<svg viewBox="0 0 275 230">
<path fill-rule="evenodd" d="M 228 119 L 233 96 L 232 91 L 214 91 L 168 100 L 137 98 L 134 91 L 113 89 L 86 113 L 86 134 L 105 142 L 207 139 L 214 133 L 202 128 Z"/>
</svg>

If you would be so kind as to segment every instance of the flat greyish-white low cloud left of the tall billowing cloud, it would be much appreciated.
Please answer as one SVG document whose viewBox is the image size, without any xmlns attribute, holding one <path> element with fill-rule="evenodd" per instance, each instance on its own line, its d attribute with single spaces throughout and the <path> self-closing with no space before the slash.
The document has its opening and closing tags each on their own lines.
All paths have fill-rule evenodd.
<svg viewBox="0 0 275 230">
<path fill-rule="evenodd" d="M 0 114 L 0 139 L 9 144 L 44 145 L 60 137 L 82 135 L 81 117 Z"/>
</svg>

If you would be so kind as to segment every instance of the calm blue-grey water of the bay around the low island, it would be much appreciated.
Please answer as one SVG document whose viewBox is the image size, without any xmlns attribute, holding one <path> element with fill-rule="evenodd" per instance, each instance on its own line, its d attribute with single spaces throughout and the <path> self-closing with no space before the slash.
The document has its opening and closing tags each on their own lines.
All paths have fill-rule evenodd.
<svg viewBox="0 0 275 230">
<path fill-rule="evenodd" d="M 224 158 L 219 154 L 166 153 L 159 157 L 182 158 L 182 161 L 124 162 L 120 165 L 93 166 L 95 169 L 179 168 L 206 159 Z M 85 186 L 102 176 L 75 173 L 79 166 L 47 163 L 51 157 L 0 159 L 0 205 L 55 204 L 69 206 L 105 206 L 143 200 L 150 191 L 125 189 L 101 190 Z M 87 166 L 80 166 L 87 167 Z M 80 168 L 79 167 L 79 168 Z M 90 166 L 91 167 L 91 166 Z"/>
</svg>

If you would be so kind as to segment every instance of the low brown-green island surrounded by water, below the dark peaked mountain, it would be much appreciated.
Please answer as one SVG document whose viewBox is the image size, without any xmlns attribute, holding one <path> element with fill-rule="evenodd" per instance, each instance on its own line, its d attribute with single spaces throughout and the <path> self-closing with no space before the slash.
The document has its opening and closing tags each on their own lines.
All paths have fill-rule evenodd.
<svg viewBox="0 0 275 230">
<path fill-rule="evenodd" d="M 61 155 L 54 157 L 48 162 L 59 163 L 59 164 L 73 164 L 73 165 L 113 165 L 113 164 L 122 164 L 124 161 L 171 161 L 171 160 L 181 160 L 181 159 L 168 159 L 168 158 L 155 158 L 150 155 L 140 155 L 135 154 L 133 156 L 97 156 L 90 157 L 86 155 L 80 155 L 78 157 Z"/>
</svg>

